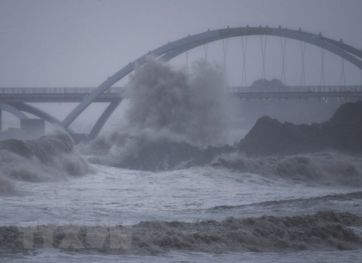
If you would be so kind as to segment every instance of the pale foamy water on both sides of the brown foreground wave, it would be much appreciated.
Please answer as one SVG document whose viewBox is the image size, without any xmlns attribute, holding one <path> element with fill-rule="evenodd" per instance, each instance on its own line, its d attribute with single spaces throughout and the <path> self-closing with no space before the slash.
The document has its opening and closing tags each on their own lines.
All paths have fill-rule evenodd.
<svg viewBox="0 0 362 263">
<path fill-rule="evenodd" d="M 56 182 L 16 182 L 21 195 L 1 197 L 0 225 L 132 225 L 140 221 L 224 220 L 295 216 L 333 210 L 362 215 L 361 190 L 273 176 L 193 167 L 144 172 L 93 165 L 93 172 Z M 349 194 L 357 193 L 357 194 Z M 273 202 L 271 202 L 273 201 Z M 360 262 L 362 250 L 278 253 L 108 255 L 44 248 L 3 250 L 1 262 Z"/>
</svg>

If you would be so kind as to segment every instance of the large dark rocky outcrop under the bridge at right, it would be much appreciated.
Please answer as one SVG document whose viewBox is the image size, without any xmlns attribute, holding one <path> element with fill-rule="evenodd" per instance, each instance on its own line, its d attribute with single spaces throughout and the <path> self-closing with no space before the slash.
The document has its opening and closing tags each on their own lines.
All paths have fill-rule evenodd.
<svg viewBox="0 0 362 263">
<path fill-rule="evenodd" d="M 251 156 L 290 155 L 336 150 L 362 152 L 362 102 L 343 104 L 326 122 L 294 125 L 264 116 L 237 149 Z"/>
</svg>

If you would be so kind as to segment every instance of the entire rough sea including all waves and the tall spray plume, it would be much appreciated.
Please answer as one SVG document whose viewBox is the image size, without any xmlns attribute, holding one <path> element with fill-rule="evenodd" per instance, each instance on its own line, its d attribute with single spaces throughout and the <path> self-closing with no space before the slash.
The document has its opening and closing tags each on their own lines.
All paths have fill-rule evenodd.
<svg viewBox="0 0 362 263">
<path fill-rule="evenodd" d="M 136 72 L 123 141 L 72 152 L 67 137 L 7 141 L 0 262 L 361 262 L 360 158 L 234 152 L 171 171 L 117 167 L 137 155 L 137 136 L 222 142 L 219 93 L 197 92 L 222 80 L 199 67 L 192 78 L 156 62 Z"/>
</svg>

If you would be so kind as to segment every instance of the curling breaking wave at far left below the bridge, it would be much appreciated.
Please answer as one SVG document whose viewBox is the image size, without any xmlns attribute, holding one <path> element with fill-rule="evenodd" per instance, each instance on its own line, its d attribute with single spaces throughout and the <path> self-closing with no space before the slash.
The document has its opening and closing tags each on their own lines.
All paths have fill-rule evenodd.
<svg viewBox="0 0 362 263">
<path fill-rule="evenodd" d="M 68 134 L 0 141 L 0 195 L 22 194 L 16 181 L 58 181 L 90 171 L 73 147 Z"/>
</svg>

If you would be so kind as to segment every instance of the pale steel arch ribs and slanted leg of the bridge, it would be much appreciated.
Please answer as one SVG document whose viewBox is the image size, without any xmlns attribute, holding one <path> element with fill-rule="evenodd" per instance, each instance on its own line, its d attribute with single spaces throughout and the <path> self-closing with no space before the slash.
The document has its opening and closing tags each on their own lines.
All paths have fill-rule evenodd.
<svg viewBox="0 0 362 263">
<path fill-rule="evenodd" d="M 271 36 L 280 36 L 284 38 L 300 40 L 305 43 L 310 43 L 314 46 L 323 48 L 332 52 L 333 54 L 342 57 L 343 59 L 351 62 L 353 65 L 357 66 L 359 69 L 362 70 L 362 51 L 349 46 L 342 41 L 333 40 L 330 38 L 326 38 L 321 34 L 314 34 L 309 33 L 302 30 L 292 30 L 287 28 L 273 28 L 273 27 L 234 27 L 234 28 L 225 28 L 225 29 L 218 29 L 218 30 L 207 30 L 206 32 L 189 35 L 185 38 L 181 38 L 174 42 L 169 42 L 159 48 L 154 49 L 153 51 L 148 52 L 147 54 L 139 57 L 133 62 L 130 62 L 128 65 L 120 69 L 118 72 L 110 76 L 106 79 L 100 86 L 97 87 L 92 93 L 86 96 L 80 104 L 77 105 L 75 109 L 62 121 L 60 122 L 56 118 L 44 115 L 44 112 L 32 107 L 26 107 L 24 105 L 12 105 L 11 110 L 14 111 L 28 111 L 33 113 L 36 116 L 41 118 L 45 118 L 46 120 L 54 123 L 60 124 L 64 129 L 66 129 L 70 134 L 73 132 L 69 129 L 69 126 L 72 122 L 95 100 L 99 98 L 99 96 L 109 89 L 112 85 L 116 82 L 121 80 L 123 77 L 127 76 L 127 74 L 131 73 L 135 68 L 138 66 L 143 65 L 146 63 L 147 57 L 152 56 L 156 57 L 161 61 L 169 61 L 174 57 L 184 53 L 190 49 L 193 49 L 198 46 L 202 46 L 203 44 L 207 44 L 210 42 L 214 42 L 217 40 L 222 40 L 226 38 L 238 37 L 238 36 L 250 36 L 250 35 L 271 35 Z M 108 120 L 110 115 L 113 111 L 117 108 L 117 106 L 121 103 L 114 102 L 109 104 L 109 106 L 105 109 L 102 113 L 101 117 L 96 121 L 96 124 L 93 126 L 89 134 L 89 139 L 94 139 L 98 133 L 100 132 L 101 128 Z M 26 104 L 25 104 L 26 105 Z M 14 111 L 15 112 L 15 111 Z M 19 115 L 18 112 L 16 112 Z M 24 117 L 24 116 L 22 116 Z"/>
</svg>

